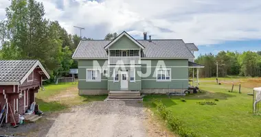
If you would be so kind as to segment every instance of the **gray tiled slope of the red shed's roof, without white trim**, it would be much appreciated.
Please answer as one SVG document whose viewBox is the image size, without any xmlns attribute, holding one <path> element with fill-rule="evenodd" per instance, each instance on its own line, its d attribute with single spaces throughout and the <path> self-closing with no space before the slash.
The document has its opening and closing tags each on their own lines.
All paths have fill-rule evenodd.
<svg viewBox="0 0 261 137">
<path fill-rule="evenodd" d="M 37 60 L 0 60 L 0 82 L 20 82 Z"/>
</svg>

